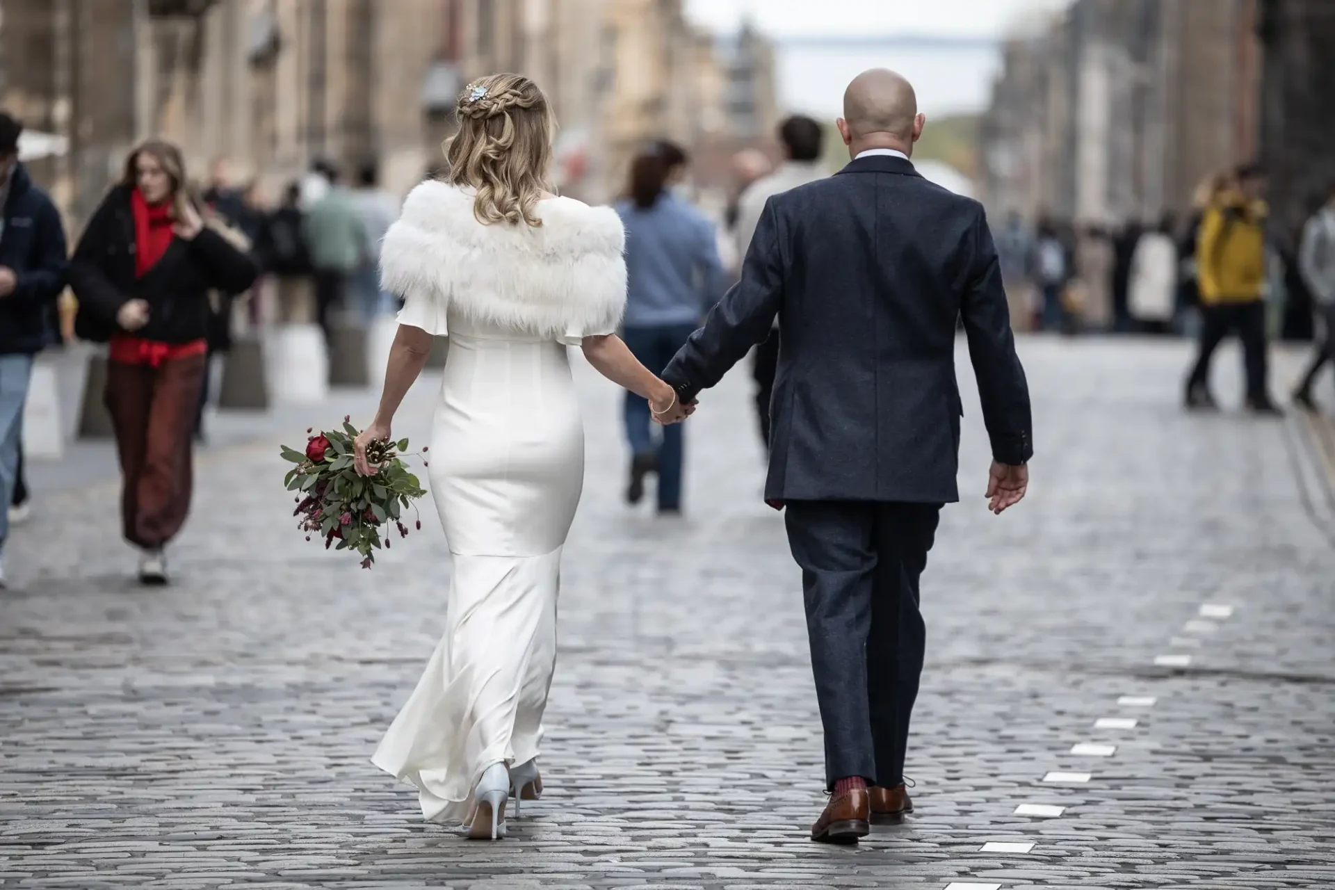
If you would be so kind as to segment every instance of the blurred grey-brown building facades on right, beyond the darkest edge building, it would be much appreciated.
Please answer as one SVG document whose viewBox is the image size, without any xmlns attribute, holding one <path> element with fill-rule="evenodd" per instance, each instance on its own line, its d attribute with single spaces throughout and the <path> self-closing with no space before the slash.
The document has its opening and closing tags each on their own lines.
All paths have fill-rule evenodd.
<svg viewBox="0 0 1335 890">
<path fill-rule="evenodd" d="M 983 128 L 993 212 L 1076 224 L 1185 211 L 1259 151 L 1258 0 L 1077 0 L 1011 40 Z"/>
</svg>

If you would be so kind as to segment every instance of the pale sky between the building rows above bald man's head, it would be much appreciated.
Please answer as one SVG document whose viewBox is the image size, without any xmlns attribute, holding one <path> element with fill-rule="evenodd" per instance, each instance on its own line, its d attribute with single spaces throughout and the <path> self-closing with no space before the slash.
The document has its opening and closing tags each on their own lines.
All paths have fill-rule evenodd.
<svg viewBox="0 0 1335 890">
<path fill-rule="evenodd" d="M 780 41 L 778 92 L 785 111 L 821 119 L 840 113 L 844 87 L 866 68 L 908 77 L 918 108 L 932 116 L 987 107 L 1001 64 L 999 47 L 918 48 L 902 44 L 853 48 L 785 47 L 785 37 L 960 37 L 997 40 L 1035 27 L 1068 0 L 686 0 L 688 15 L 721 33 L 744 17 Z"/>
</svg>

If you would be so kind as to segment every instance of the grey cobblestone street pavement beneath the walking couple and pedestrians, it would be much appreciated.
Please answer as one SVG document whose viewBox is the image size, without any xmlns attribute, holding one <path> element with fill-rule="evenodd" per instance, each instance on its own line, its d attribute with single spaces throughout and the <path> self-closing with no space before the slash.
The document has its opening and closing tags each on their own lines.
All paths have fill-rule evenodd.
<svg viewBox="0 0 1335 890">
<path fill-rule="evenodd" d="M 619 502 L 617 396 L 582 368 L 547 794 L 510 839 L 421 823 L 368 762 L 442 627 L 434 512 L 359 571 L 300 540 L 276 450 L 255 446 L 200 467 L 171 588 L 125 579 L 105 486 L 16 531 L 0 886 L 1335 885 L 1335 556 L 1311 428 L 1183 416 L 1176 343 L 1023 354 L 1039 454 L 1000 519 L 967 395 L 965 502 L 924 579 L 906 826 L 805 839 L 820 725 L 745 372 L 688 431 L 688 518 L 657 522 Z M 1224 396 L 1236 364 L 1220 356 Z M 399 432 L 422 435 L 431 386 Z M 1033 805 L 1063 809 L 1016 813 Z"/>
</svg>

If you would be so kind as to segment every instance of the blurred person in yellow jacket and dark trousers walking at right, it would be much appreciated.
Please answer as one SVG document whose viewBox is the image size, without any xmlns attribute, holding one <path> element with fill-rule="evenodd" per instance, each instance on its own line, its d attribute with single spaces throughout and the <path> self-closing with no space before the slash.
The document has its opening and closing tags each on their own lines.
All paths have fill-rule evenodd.
<svg viewBox="0 0 1335 890">
<path fill-rule="evenodd" d="M 1243 344 L 1247 407 L 1278 414 L 1270 398 L 1266 367 L 1266 173 L 1240 167 L 1206 208 L 1196 238 L 1200 284 L 1200 355 L 1187 378 L 1187 407 L 1214 408 L 1210 359 L 1232 332 Z"/>
</svg>

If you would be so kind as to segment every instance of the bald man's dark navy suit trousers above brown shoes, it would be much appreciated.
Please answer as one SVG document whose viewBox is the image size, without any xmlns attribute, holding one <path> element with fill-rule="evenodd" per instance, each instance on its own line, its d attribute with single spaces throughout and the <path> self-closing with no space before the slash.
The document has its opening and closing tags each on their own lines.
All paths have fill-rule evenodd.
<svg viewBox="0 0 1335 890">
<path fill-rule="evenodd" d="M 941 504 L 786 502 L 828 789 L 856 775 L 882 787 L 904 781 L 926 644 L 918 579 L 940 514 Z"/>
</svg>

